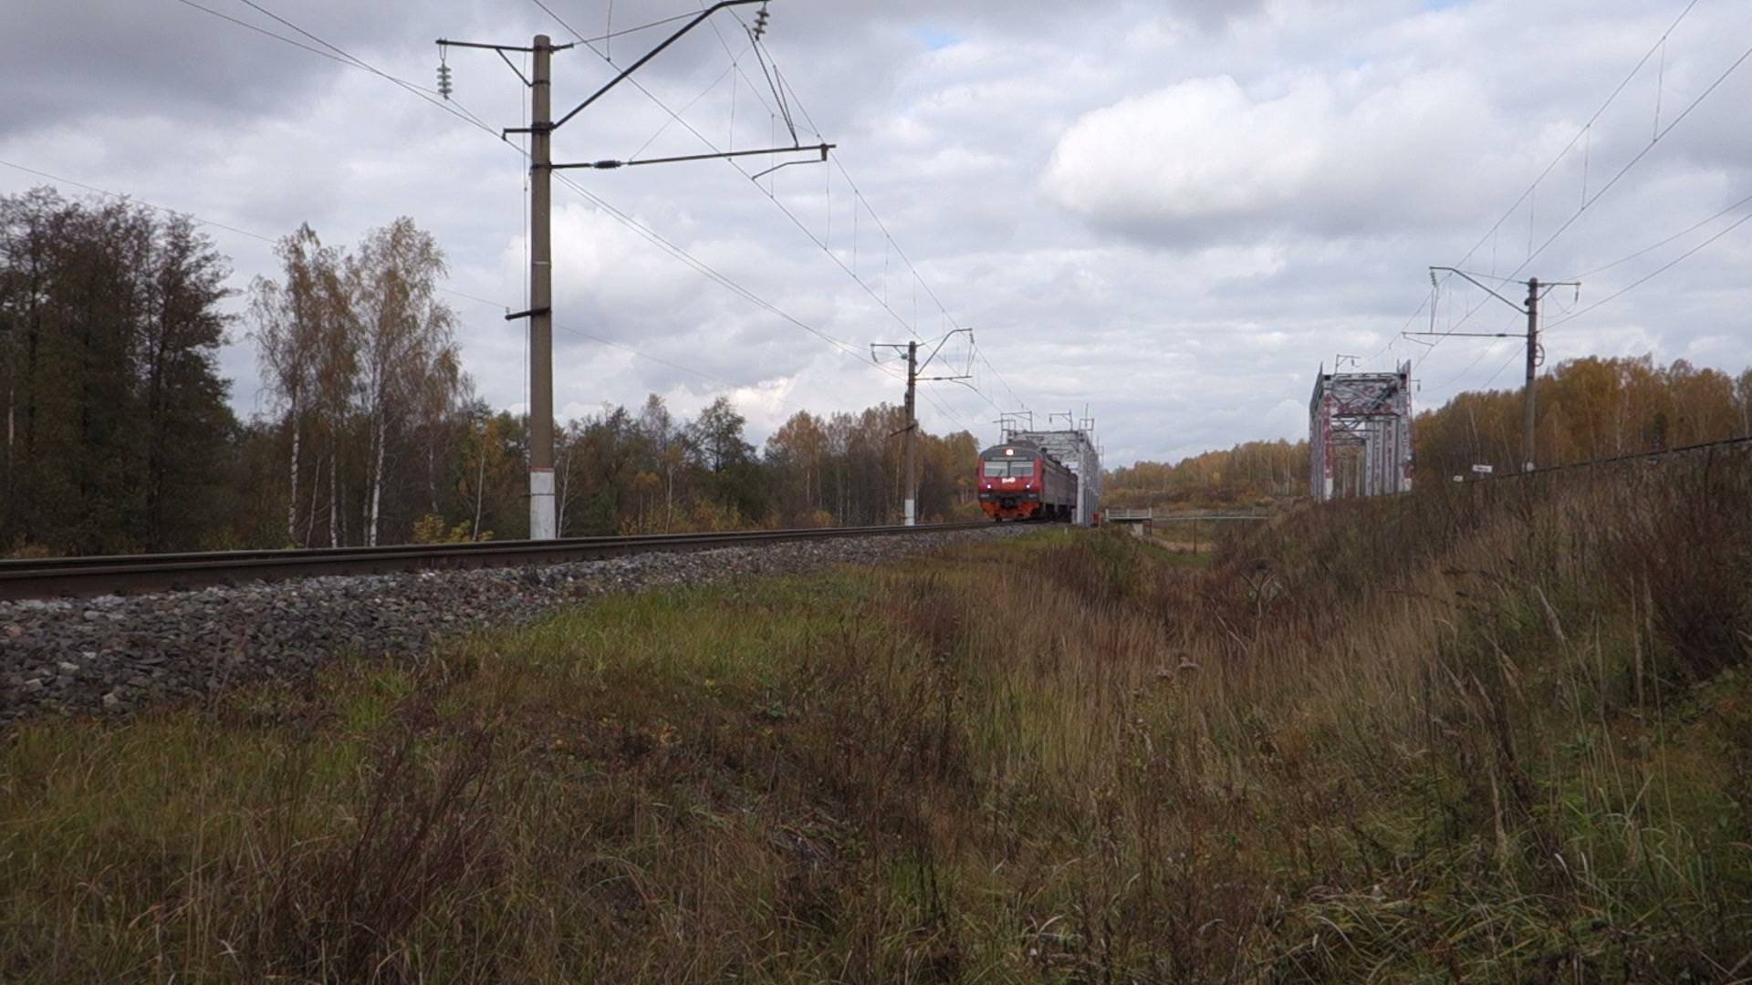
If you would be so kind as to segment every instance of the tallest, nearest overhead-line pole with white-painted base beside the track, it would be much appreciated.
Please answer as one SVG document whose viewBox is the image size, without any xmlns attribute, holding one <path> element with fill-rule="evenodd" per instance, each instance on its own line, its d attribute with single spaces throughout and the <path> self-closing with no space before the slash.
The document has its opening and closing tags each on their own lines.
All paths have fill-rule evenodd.
<svg viewBox="0 0 1752 985">
<path fill-rule="evenodd" d="M 529 540 L 559 536 L 554 517 L 554 42 L 536 35 L 529 81 Z"/>
</svg>

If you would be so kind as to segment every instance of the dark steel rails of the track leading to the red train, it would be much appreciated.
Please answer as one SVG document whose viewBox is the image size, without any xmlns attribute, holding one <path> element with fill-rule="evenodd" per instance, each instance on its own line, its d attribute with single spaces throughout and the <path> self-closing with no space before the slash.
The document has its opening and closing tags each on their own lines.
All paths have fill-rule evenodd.
<svg viewBox="0 0 1752 985">
<path fill-rule="evenodd" d="M 394 547 L 319 547 L 308 550 L 210 550 L 196 554 L 126 554 L 0 561 L 0 601 L 91 598 L 187 591 L 242 582 L 279 582 L 319 575 L 389 575 L 456 568 L 519 568 L 594 561 L 620 554 L 710 550 L 788 540 L 906 536 L 988 528 L 990 522 L 573 536 L 485 543 L 406 543 Z"/>
</svg>

